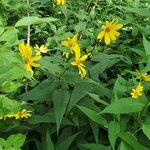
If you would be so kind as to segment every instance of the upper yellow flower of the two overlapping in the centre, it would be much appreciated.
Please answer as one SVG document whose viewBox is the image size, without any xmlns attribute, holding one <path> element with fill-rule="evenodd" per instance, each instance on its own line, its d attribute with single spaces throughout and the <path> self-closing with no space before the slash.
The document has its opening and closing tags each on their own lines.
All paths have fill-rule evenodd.
<svg viewBox="0 0 150 150">
<path fill-rule="evenodd" d="M 67 38 L 66 40 L 61 42 L 62 46 L 70 48 L 70 52 L 64 52 L 63 56 L 65 56 L 67 59 L 69 57 L 70 53 L 73 53 L 73 51 L 80 51 L 80 46 L 77 43 L 78 34 L 73 36 L 72 38 Z"/>
</svg>

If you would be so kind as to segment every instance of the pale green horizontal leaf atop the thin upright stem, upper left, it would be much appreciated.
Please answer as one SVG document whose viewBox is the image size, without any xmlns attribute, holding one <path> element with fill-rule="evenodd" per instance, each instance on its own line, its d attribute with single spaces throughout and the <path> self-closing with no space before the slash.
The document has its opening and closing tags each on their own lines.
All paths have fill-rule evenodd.
<svg viewBox="0 0 150 150">
<path fill-rule="evenodd" d="M 57 21 L 58 19 L 53 18 L 53 17 L 45 17 L 45 18 L 39 18 L 36 16 L 29 16 L 29 17 L 24 17 L 20 19 L 16 24 L 15 27 L 20 27 L 20 26 L 28 26 L 32 24 L 40 24 L 43 22 L 50 23 L 53 21 Z"/>
</svg>

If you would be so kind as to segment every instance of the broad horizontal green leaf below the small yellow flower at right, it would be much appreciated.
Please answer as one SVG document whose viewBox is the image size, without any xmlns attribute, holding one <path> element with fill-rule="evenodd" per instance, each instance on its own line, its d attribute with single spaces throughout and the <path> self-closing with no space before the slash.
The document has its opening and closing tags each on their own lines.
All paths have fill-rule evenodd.
<svg viewBox="0 0 150 150">
<path fill-rule="evenodd" d="M 128 114 L 140 112 L 143 109 L 143 107 L 144 104 L 135 101 L 132 98 L 122 98 L 118 101 L 112 102 L 100 113 Z"/>
</svg>

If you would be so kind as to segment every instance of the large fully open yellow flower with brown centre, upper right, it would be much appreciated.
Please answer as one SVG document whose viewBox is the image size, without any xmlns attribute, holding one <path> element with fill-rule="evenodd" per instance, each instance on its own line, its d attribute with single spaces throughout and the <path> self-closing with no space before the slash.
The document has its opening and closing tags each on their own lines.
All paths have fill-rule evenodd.
<svg viewBox="0 0 150 150">
<path fill-rule="evenodd" d="M 106 45 L 110 45 L 111 41 L 116 41 L 116 38 L 120 35 L 117 30 L 120 30 L 122 27 L 123 24 L 118 24 L 115 19 L 113 19 L 111 22 L 106 21 L 105 25 L 102 25 L 103 31 L 98 34 L 97 38 L 100 41 L 102 41 L 104 38 Z"/>
</svg>

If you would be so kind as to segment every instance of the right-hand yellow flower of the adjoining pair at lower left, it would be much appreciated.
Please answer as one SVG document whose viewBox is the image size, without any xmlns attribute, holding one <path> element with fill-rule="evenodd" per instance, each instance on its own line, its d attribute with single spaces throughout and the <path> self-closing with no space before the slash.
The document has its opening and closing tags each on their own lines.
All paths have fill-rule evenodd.
<svg viewBox="0 0 150 150">
<path fill-rule="evenodd" d="M 31 110 L 23 109 L 21 111 L 18 111 L 14 116 L 16 119 L 27 119 L 31 117 Z"/>
</svg>

